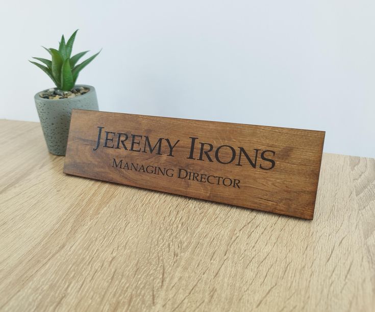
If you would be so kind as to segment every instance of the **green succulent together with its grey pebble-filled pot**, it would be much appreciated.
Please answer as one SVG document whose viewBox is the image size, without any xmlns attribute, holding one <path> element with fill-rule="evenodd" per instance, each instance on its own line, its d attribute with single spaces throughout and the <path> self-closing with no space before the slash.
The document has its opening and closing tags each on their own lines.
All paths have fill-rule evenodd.
<svg viewBox="0 0 375 312">
<path fill-rule="evenodd" d="M 88 85 L 76 85 L 80 71 L 99 53 L 80 64 L 78 61 L 88 52 L 71 56 L 76 30 L 65 42 L 61 37 L 59 49 L 44 49 L 51 55 L 51 60 L 33 57 L 44 65 L 32 62 L 52 79 L 56 87 L 48 88 L 35 94 L 35 105 L 43 129 L 48 151 L 54 155 L 65 155 L 68 139 L 70 115 L 73 108 L 98 110 L 95 89 Z"/>
</svg>

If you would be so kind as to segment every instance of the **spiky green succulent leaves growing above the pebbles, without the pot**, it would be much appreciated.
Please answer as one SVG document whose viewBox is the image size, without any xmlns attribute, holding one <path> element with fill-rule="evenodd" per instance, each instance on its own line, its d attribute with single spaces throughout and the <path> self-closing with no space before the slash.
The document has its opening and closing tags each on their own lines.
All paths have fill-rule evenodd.
<svg viewBox="0 0 375 312">
<path fill-rule="evenodd" d="M 52 47 L 47 49 L 43 46 L 44 49 L 51 55 L 52 60 L 33 57 L 33 59 L 44 63 L 46 66 L 30 61 L 42 69 L 44 73 L 46 73 L 48 77 L 52 79 L 56 87 L 63 91 L 70 91 L 74 87 L 80 71 L 100 53 L 99 51 L 95 55 L 77 65 L 78 61 L 88 52 L 84 51 L 70 57 L 77 32 L 78 30 L 76 30 L 70 36 L 66 43 L 64 35 L 62 35 L 61 41 L 59 42 L 59 50 L 53 49 Z"/>
</svg>

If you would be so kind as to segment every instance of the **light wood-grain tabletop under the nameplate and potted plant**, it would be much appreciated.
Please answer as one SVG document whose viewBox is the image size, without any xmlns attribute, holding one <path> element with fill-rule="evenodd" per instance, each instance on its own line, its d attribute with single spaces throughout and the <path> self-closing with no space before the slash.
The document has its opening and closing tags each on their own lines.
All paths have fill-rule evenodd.
<svg viewBox="0 0 375 312">
<path fill-rule="evenodd" d="M 306 221 L 64 175 L 38 123 L 0 129 L 1 310 L 375 310 L 375 159 L 324 154 Z"/>
</svg>

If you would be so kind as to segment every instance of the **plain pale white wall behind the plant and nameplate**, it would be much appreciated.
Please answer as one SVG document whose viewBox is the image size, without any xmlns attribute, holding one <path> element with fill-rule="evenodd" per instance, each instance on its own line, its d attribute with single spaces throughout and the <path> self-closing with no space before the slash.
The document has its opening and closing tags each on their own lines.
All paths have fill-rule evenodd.
<svg viewBox="0 0 375 312">
<path fill-rule="evenodd" d="M 2 1 L 0 118 L 38 121 L 53 83 L 32 56 L 80 29 L 103 47 L 78 83 L 99 107 L 325 130 L 324 151 L 375 157 L 375 1 Z"/>
</svg>

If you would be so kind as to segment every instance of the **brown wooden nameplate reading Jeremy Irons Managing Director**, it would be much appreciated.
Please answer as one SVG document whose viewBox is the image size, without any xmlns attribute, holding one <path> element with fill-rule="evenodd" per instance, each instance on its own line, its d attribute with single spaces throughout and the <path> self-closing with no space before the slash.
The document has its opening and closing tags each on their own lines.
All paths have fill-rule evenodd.
<svg viewBox="0 0 375 312">
<path fill-rule="evenodd" d="M 312 219 L 323 131 L 73 110 L 64 173 Z"/>
</svg>

